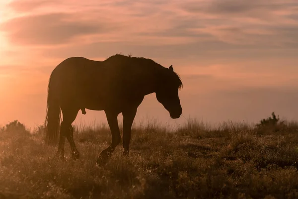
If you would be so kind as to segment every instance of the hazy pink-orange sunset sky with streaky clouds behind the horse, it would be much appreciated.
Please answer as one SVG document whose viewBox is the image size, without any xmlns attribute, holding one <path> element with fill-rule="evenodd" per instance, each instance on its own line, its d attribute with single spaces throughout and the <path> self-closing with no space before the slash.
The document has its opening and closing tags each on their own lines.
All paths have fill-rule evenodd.
<svg viewBox="0 0 298 199">
<path fill-rule="evenodd" d="M 44 122 L 48 79 L 68 57 L 116 53 L 173 65 L 183 116 L 298 119 L 297 0 L 0 0 L 0 124 Z M 155 95 L 137 120 L 173 120 Z M 103 111 L 76 123 L 106 122 Z"/>
</svg>

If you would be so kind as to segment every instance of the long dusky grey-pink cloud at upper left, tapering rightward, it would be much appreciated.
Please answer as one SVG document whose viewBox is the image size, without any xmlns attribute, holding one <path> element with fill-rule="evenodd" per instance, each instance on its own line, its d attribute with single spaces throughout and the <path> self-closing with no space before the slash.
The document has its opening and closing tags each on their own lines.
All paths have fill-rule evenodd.
<svg viewBox="0 0 298 199">
<path fill-rule="evenodd" d="M 74 20 L 75 14 L 27 15 L 2 24 L 9 41 L 16 45 L 65 44 L 79 36 L 106 33 L 114 29 L 103 21 Z M 74 41 L 75 42 L 75 41 Z"/>
</svg>

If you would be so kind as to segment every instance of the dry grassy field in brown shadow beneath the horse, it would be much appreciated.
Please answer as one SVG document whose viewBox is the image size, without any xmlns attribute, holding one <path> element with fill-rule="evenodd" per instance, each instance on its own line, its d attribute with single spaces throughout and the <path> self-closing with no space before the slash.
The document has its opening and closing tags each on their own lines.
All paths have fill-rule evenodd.
<svg viewBox="0 0 298 199">
<path fill-rule="evenodd" d="M 157 123 L 133 128 L 130 156 L 120 145 L 101 167 L 98 152 L 109 129 L 75 131 L 79 160 L 52 159 L 42 128 L 13 123 L 0 130 L 0 199 L 297 199 L 298 125 L 255 128 L 225 122 L 216 128 L 189 120 L 169 130 Z"/>
</svg>

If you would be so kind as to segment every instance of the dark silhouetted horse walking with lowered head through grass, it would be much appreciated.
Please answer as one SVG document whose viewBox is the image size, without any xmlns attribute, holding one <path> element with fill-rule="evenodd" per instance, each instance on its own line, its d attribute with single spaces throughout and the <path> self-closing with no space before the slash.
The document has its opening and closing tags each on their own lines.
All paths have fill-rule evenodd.
<svg viewBox="0 0 298 199">
<path fill-rule="evenodd" d="M 49 78 L 46 140 L 54 144 L 59 139 L 55 157 L 64 159 L 67 138 L 72 159 L 79 158 L 72 127 L 78 111 L 84 113 L 85 108 L 104 110 L 112 134 L 112 143 L 98 155 L 99 164 L 111 157 L 121 142 L 117 117 L 122 113 L 123 155 L 129 155 L 131 127 L 144 97 L 155 93 L 157 101 L 169 112 L 171 118 L 176 119 L 182 114 L 178 96 L 182 87 L 181 79 L 172 65 L 165 68 L 148 58 L 121 54 L 113 55 L 104 61 L 84 57 L 68 58 L 56 66 Z"/>
</svg>

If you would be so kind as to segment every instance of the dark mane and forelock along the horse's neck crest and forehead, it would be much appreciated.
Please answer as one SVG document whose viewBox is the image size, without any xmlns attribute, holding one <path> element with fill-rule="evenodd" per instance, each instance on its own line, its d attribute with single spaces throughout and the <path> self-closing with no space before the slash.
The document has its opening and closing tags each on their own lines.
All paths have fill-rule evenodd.
<svg viewBox="0 0 298 199">
<path fill-rule="evenodd" d="M 143 61 L 145 61 L 145 62 L 147 62 L 149 64 L 154 64 L 155 66 L 158 66 L 159 68 L 168 69 L 168 68 L 165 68 L 165 67 L 161 66 L 160 64 L 156 63 L 152 59 L 145 58 L 145 57 L 132 57 L 131 54 L 129 54 L 129 55 L 123 55 L 122 53 L 120 53 L 120 54 L 117 53 L 116 55 L 112 55 L 111 57 L 107 58 L 106 60 L 110 60 L 110 59 L 136 59 L 136 60 L 143 60 Z M 178 89 L 180 90 L 180 89 L 183 88 L 183 84 L 182 84 L 181 78 L 180 78 L 180 76 L 176 72 L 173 71 L 173 73 L 174 73 L 173 80 L 176 82 L 176 84 L 178 86 Z"/>
</svg>

